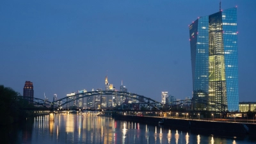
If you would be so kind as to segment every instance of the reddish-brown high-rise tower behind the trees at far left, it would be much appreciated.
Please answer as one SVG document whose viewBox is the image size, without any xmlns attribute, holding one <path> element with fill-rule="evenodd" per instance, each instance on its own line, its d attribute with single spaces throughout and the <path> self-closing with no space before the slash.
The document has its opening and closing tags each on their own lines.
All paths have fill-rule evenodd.
<svg viewBox="0 0 256 144">
<path fill-rule="evenodd" d="M 33 104 L 34 99 L 34 86 L 31 81 L 26 81 L 23 88 L 23 98 L 29 101 L 29 104 Z"/>
</svg>

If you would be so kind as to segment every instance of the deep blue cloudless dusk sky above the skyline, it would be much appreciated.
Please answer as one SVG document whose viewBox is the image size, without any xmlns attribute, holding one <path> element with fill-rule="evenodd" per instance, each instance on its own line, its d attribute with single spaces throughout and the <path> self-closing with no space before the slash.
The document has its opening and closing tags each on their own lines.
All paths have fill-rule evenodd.
<svg viewBox="0 0 256 144">
<path fill-rule="evenodd" d="M 220 1 L 0 1 L 0 84 L 52 100 L 109 83 L 157 101 L 192 97 L 188 25 Z M 239 101 L 256 101 L 256 1 L 237 6 Z"/>
</svg>

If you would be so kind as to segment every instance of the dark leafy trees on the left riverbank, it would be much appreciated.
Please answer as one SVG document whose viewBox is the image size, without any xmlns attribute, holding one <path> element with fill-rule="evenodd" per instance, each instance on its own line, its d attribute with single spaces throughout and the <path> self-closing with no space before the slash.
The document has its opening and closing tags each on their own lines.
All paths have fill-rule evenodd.
<svg viewBox="0 0 256 144">
<path fill-rule="evenodd" d="M 21 96 L 19 92 L 0 85 L 0 126 L 12 125 L 34 116 L 33 111 L 26 110 L 34 108 L 33 104 L 18 96 Z"/>
</svg>

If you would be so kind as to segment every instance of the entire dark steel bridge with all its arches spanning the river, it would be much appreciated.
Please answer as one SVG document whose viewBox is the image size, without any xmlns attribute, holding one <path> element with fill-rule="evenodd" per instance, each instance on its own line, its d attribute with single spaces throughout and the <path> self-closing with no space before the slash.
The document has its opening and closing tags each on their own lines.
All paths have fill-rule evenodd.
<svg viewBox="0 0 256 144">
<path fill-rule="evenodd" d="M 218 109 L 218 111 L 220 111 L 220 112 L 228 112 L 227 105 L 221 104 L 220 102 L 214 102 L 214 101 L 209 101 L 209 100 L 204 100 L 204 99 L 176 100 L 176 101 L 168 103 L 170 108 L 164 109 L 164 104 L 162 104 L 161 102 L 157 102 L 156 100 L 153 100 L 151 98 L 145 97 L 143 95 L 138 95 L 136 93 L 116 92 L 116 91 L 94 91 L 94 92 L 77 93 L 76 95 L 72 95 L 69 97 L 63 97 L 61 99 L 54 100 L 52 102 L 50 102 L 49 100 L 38 99 L 35 97 L 33 99 L 31 99 L 31 97 L 19 96 L 19 97 L 17 97 L 17 99 L 26 99 L 36 106 L 43 106 L 44 108 L 51 108 L 52 110 L 54 110 L 54 109 L 61 108 L 62 106 L 65 106 L 66 104 L 68 104 L 70 102 L 74 102 L 79 99 L 83 99 L 86 97 L 92 97 L 92 96 L 96 96 L 96 95 L 100 96 L 100 97 L 107 96 L 107 95 L 127 97 L 130 99 L 138 100 L 138 102 L 147 104 L 148 106 L 150 106 L 152 108 L 156 108 L 159 111 L 164 111 L 164 110 L 170 111 L 172 108 L 182 106 L 182 104 L 185 104 L 187 106 L 189 104 L 205 104 L 211 108 Z M 159 108 L 163 108 L 163 110 L 161 110 Z"/>
</svg>

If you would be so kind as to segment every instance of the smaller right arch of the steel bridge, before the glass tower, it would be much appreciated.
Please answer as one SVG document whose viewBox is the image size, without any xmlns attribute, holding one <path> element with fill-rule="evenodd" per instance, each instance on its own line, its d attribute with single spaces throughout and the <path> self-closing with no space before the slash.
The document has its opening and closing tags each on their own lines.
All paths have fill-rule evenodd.
<svg viewBox="0 0 256 144">
<path fill-rule="evenodd" d="M 174 105 L 173 105 L 174 103 Z M 177 104 L 178 103 L 178 104 Z M 227 105 L 221 104 L 220 102 L 215 102 L 211 100 L 204 100 L 204 99 L 186 99 L 186 100 L 176 100 L 169 103 L 172 109 L 173 107 L 180 106 L 182 104 L 189 105 L 189 104 L 205 104 L 211 108 L 218 109 L 220 112 L 227 112 Z"/>
</svg>

